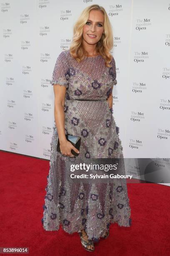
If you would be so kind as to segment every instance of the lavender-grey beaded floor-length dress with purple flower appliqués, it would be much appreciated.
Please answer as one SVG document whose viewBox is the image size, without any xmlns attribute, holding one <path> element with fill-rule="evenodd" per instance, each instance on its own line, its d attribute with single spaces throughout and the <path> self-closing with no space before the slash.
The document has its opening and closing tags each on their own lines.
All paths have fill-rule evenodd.
<svg viewBox="0 0 170 256">
<path fill-rule="evenodd" d="M 54 123 L 50 170 L 45 188 L 42 225 L 45 230 L 67 233 L 86 229 L 90 239 L 100 238 L 111 223 L 129 227 L 130 205 L 125 179 L 101 183 L 70 182 L 68 161 L 75 159 L 122 158 L 119 127 L 107 97 L 117 84 L 115 60 L 105 66 L 102 56 L 78 61 L 70 50 L 58 56 L 50 83 L 66 87 L 65 134 L 81 137 L 80 154 L 71 159 L 57 152 L 58 134 Z M 83 101 L 76 99 L 85 99 Z M 101 101 L 89 101 L 101 100 Z M 125 173 L 125 166 L 122 166 Z"/>
</svg>

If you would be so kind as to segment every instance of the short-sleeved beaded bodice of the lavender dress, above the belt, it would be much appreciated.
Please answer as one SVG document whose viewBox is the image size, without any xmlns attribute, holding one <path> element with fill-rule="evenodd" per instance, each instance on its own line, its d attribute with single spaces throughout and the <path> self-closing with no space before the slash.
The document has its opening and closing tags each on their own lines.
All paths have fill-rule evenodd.
<svg viewBox="0 0 170 256">
<path fill-rule="evenodd" d="M 51 84 L 67 87 L 66 99 L 107 99 L 117 84 L 115 60 L 105 66 L 102 56 L 85 57 L 80 63 L 62 51 L 57 58 Z"/>
</svg>

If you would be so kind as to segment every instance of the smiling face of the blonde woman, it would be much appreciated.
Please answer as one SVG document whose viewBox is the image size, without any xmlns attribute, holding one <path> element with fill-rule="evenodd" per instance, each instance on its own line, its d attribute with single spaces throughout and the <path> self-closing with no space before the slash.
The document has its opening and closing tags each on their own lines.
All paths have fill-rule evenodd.
<svg viewBox="0 0 170 256">
<path fill-rule="evenodd" d="M 86 24 L 83 26 L 82 36 L 87 44 L 97 44 L 104 31 L 104 15 L 100 10 L 91 10 Z M 90 36 L 91 35 L 91 36 Z"/>
</svg>

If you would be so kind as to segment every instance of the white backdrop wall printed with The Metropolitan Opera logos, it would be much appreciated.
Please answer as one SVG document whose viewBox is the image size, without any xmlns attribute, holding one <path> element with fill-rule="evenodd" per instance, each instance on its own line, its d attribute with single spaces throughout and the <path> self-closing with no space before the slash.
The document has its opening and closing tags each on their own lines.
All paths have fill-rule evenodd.
<svg viewBox="0 0 170 256">
<path fill-rule="evenodd" d="M 0 149 L 50 159 L 52 72 L 80 12 L 92 4 L 103 6 L 112 24 L 113 116 L 124 157 L 166 161 L 170 0 L 0 0 Z"/>
</svg>

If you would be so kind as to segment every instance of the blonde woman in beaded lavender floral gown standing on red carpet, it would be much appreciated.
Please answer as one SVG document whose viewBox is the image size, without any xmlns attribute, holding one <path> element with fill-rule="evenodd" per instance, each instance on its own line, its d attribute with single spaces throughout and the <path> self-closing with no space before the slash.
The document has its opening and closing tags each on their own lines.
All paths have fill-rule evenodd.
<svg viewBox="0 0 170 256">
<path fill-rule="evenodd" d="M 70 182 L 69 164 L 101 158 L 123 158 L 119 128 L 112 116 L 112 89 L 117 84 L 112 28 L 105 9 L 91 5 L 74 26 L 70 49 L 57 58 L 51 84 L 55 125 L 47 176 L 43 228 L 80 233 L 82 246 L 107 238 L 110 223 L 130 226 L 126 181 Z M 81 137 L 80 150 L 65 134 Z M 60 151 L 57 141 L 60 140 Z M 78 156 L 74 156 L 71 150 Z M 84 160 L 83 160 L 84 159 Z M 122 165 L 122 172 L 125 172 Z"/>
</svg>

